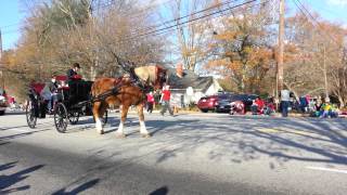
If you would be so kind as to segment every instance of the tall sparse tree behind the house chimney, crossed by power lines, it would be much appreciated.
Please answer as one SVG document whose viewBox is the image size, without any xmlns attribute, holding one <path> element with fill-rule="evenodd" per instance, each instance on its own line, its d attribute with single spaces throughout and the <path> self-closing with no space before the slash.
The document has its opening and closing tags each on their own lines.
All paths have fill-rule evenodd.
<svg viewBox="0 0 347 195">
<path fill-rule="evenodd" d="M 175 0 L 170 4 L 176 29 L 172 46 L 175 54 L 182 60 L 183 67 L 196 70 L 209 57 L 208 41 L 211 39 L 211 18 L 193 22 L 221 8 L 218 0 Z M 192 22 L 191 22 L 192 21 Z M 183 24 L 187 23 L 187 24 Z M 183 24 L 183 25 L 182 25 Z"/>
</svg>

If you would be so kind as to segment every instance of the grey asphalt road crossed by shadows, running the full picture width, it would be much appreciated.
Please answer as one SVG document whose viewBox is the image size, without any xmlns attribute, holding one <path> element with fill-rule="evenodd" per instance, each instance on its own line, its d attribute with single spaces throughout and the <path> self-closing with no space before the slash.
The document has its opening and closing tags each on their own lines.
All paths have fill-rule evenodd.
<svg viewBox="0 0 347 195">
<path fill-rule="evenodd" d="M 329 194 L 347 192 L 347 120 L 136 115 L 116 139 L 91 117 L 57 133 L 52 118 L 0 117 L 0 194 Z"/>
</svg>

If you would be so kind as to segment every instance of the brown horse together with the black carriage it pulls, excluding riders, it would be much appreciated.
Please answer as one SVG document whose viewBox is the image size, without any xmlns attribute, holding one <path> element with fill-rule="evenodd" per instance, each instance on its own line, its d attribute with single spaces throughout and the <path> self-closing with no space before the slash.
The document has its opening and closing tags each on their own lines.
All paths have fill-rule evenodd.
<svg viewBox="0 0 347 195">
<path fill-rule="evenodd" d="M 115 54 L 114 54 L 115 55 Z M 80 115 L 93 115 L 95 129 L 104 133 L 103 125 L 107 121 L 107 108 L 110 105 L 121 106 L 120 121 L 117 135 L 123 138 L 124 123 L 131 105 L 136 105 L 140 133 L 147 138 L 149 131 L 144 125 L 143 107 L 145 94 L 150 90 L 158 90 L 167 80 L 166 69 L 159 65 L 133 67 L 132 63 L 115 58 L 120 67 L 128 73 L 119 78 L 99 78 L 94 82 L 76 81 L 69 82 L 68 88 L 57 90 L 59 99 L 54 105 L 54 125 L 59 132 L 65 132 L 69 123 L 78 122 Z M 132 66 L 132 67 L 131 67 Z M 66 79 L 66 78 L 65 78 Z M 44 118 L 47 102 L 40 95 L 44 84 L 31 84 L 29 99 L 26 106 L 26 118 L 30 128 L 36 127 L 37 118 Z"/>
</svg>

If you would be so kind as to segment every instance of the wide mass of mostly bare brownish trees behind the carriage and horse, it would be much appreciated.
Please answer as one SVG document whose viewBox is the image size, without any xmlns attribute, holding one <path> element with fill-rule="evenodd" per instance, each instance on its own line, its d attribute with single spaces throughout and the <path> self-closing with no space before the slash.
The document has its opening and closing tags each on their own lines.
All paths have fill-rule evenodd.
<svg viewBox="0 0 347 195">
<path fill-rule="evenodd" d="M 153 26 L 153 21 L 145 15 L 133 16 L 141 10 L 138 1 L 112 2 L 97 3 L 99 8 L 91 0 L 30 3 L 33 6 L 11 62 L 12 70 L 21 75 L 17 81 L 47 81 L 51 75 L 65 75 L 74 62 L 82 65 L 87 79 L 113 77 L 121 70 L 114 54 L 136 65 L 160 62 L 163 39 L 141 36 L 146 32 L 143 29 Z M 12 83 L 12 88 L 18 86 Z"/>
</svg>

